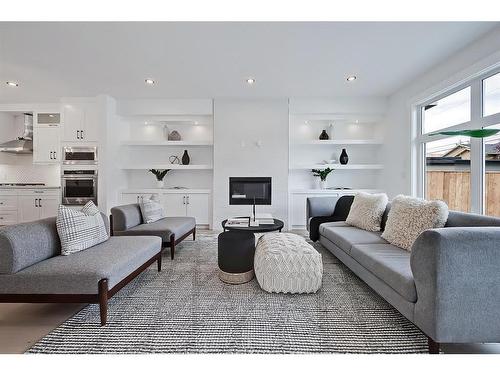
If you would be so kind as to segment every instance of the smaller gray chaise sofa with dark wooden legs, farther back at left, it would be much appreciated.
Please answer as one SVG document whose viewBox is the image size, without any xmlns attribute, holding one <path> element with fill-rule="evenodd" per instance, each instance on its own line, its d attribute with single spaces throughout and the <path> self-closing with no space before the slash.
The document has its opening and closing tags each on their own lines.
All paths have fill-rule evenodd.
<svg viewBox="0 0 500 375">
<path fill-rule="evenodd" d="M 112 236 L 158 236 L 164 247 L 170 248 L 170 258 L 174 259 L 175 245 L 190 234 L 196 239 L 194 217 L 171 216 L 154 223 L 144 223 L 139 204 L 127 204 L 111 209 Z"/>
</svg>

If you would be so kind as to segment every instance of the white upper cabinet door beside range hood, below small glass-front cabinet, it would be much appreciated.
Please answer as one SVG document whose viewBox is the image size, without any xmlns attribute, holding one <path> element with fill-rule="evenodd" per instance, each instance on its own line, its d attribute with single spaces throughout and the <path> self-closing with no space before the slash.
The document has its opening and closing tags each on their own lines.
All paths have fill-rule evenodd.
<svg viewBox="0 0 500 375">
<path fill-rule="evenodd" d="M 61 129 L 58 124 L 33 127 L 33 163 L 57 164 L 61 161 Z"/>
</svg>

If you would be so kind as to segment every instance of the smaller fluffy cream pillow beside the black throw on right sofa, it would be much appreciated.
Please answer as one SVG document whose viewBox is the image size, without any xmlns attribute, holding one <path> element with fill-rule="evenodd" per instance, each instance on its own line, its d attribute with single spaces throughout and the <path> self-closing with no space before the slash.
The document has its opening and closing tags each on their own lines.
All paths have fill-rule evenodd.
<svg viewBox="0 0 500 375">
<path fill-rule="evenodd" d="M 384 193 L 358 193 L 354 197 L 345 222 L 364 230 L 378 232 L 387 202 L 388 198 Z"/>
</svg>

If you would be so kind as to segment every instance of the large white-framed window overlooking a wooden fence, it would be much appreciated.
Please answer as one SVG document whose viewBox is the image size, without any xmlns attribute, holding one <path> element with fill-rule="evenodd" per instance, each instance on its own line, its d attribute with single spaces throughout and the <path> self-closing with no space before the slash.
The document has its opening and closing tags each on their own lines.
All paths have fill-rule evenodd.
<svg viewBox="0 0 500 375">
<path fill-rule="evenodd" d="M 484 139 L 436 134 L 500 129 L 499 71 L 421 103 L 417 113 L 417 194 L 452 210 L 500 217 L 500 133 Z"/>
</svg>

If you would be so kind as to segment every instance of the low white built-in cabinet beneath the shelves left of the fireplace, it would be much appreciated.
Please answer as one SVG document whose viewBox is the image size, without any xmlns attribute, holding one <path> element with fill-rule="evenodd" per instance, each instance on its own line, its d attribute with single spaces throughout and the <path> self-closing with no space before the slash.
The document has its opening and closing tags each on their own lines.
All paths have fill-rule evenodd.
<svg viewBox="0 0 500 375">
<path fill-rule="evenodd" d="M 191 216 L 198 225 L 210 225 L 210 191 L 204 189 L 143 189 L 122 192 L 122 204 L 140 203 L 158 194 L 166 216 Z"/>
</svg>

